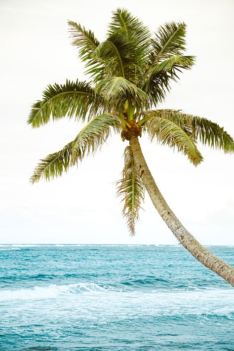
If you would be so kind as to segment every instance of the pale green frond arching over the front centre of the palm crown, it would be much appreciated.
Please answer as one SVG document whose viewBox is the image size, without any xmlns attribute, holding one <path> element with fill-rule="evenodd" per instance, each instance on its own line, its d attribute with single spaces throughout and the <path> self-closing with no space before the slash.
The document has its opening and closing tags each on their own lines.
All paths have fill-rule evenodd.
<svg viewBox="0 0 234 351">
<path fill-rule="evenodd" d="M 137 110 L 141 110 L 144 106 L 149 106 L 147 94 L 122 77 L 110 77 L 102 79 L 97 85 L 96 89 L 99 95 L 113 106 L 117 111 L 122 111 L 126 99 L 130 97 L 135 103 Z"/>
</svg>

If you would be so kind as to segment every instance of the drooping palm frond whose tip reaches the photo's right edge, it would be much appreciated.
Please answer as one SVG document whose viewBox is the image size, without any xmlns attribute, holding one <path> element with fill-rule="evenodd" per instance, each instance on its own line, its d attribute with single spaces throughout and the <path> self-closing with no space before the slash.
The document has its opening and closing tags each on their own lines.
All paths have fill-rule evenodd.
<svg viewBox="0 0 234 351">
<path fill-rule="evenodd" d="M 217 123 L 174 110 L 156 110 L 150 113 L 173 121 L 203 145 L 223 150 L 225 153 L 234 152 L 233 138 Z"/>
</svg>

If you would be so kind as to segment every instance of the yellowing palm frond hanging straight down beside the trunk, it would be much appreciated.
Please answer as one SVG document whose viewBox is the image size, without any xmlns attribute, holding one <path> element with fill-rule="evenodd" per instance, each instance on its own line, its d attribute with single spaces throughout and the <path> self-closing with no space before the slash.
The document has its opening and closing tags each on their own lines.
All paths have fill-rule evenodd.
<svg viewBox="0 0 234 351">
<path fill-rule="evenodd" d="M 131 235 L 135 234 L 135 223 L 139 220 L 139 209 L 144 201 L 145 188 L 134 164 L 130 146 L 124 150 L 122 179 L 117 182 L 117 196 L 124 202 L 122 214 L 127 219 Z"/>
</svg>

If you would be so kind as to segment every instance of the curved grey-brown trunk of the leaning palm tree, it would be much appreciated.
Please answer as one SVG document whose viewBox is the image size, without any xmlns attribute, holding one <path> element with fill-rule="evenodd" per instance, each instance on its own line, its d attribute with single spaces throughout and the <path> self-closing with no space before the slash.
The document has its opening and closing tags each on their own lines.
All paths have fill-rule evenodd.
<svg viewBox="0 0 234 351">
<path fill-rule="evenodd" d="M 234 286 L 234 268 L 206 250 L 195 237 L 185 229 L 159 192 L 142 154 L 138 138 L 132 137 L 129 143 L 134 162 L 143 184 L 163 221 L 166 222 L 175 237 L 198 261 Z"/>
</svg>

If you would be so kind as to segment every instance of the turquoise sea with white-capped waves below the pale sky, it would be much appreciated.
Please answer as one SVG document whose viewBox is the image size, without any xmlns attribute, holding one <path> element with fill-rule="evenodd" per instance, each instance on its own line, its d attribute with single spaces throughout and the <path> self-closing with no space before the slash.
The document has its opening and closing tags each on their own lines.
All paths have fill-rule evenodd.
<svg viewBox="0 0 234 351">
<path fill-rule="evenodd" d="M 234 350 L 234 289 L 181 245 L 1 245 L 0 350 Z"/>
</svg>

